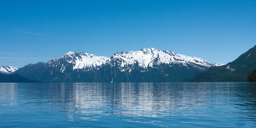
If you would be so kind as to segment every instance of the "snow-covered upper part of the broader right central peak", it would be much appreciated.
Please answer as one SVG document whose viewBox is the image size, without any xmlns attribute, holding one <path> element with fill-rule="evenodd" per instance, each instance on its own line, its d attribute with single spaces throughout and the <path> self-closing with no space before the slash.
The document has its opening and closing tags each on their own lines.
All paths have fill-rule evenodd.
<svg viewBox="0 0 256 128">
<path fill-rule="evenodd" d="M 114 65 L 118 65 L 122 71 L 130 69 L 136 63 L 143 69 L 158 67 L 162 64 L 178 64 L 186 67 L 193 65 L 201 70 L 212 66 L 221 66 L 220 64 L 211 63 L 200 58 L 188 57 L 173 51 L 161 51 L 154 48 L 142 49 L 140 51 L 118 52 L 111 57 L 110 61 L 114 62 Z"/>
</svg>

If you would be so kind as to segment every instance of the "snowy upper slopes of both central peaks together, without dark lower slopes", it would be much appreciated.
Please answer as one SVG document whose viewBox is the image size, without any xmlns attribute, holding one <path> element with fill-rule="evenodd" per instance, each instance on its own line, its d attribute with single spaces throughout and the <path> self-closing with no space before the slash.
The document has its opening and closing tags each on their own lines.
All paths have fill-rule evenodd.
<svg viewBox="0 0 256 128">
<path fill-rule="evenodd" d="M 47 62 L 47 65 L 58 68 L 63 73 L 67 67 L 73 67 L 73 70 L 92 70 L 99 69 L 102 65 L 108 63 L 112 66 L 117 65 L 122 71 L 130 70 L 135 64 L 138 64 L 143 69 L 158 67 L 162 64 L 169 66 L 193 66 L 202 70 L 212 66 L 220 66 L 196 57 L 189 57 L 173 51 L 161 51 L 154 48 L 117 52 L 112 55 L 111 59 L 108 57 L 98 57 L 97 55 L 85 52 L 68 52 L 58 59 L 52 59 Z"/>
</svg>

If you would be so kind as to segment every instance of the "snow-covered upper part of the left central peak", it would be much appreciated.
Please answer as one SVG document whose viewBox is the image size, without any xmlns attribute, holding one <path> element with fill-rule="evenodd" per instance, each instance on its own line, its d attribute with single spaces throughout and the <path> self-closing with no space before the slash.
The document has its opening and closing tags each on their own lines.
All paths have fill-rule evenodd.
<svg viewBox="0 0 256 128">
<path fill-rule="evenodd" d="M 92 70 L 99 68 L 109 60 L 108 57 L 98 57 L 94 54 L 85 52 L 68 52 L 61 58 L 52 59 L 46 63 L 48 67 L 60 67 L 60 71 L 63 73 L 67 69 L 67 66 L 75 69 Z"/>
</svg>

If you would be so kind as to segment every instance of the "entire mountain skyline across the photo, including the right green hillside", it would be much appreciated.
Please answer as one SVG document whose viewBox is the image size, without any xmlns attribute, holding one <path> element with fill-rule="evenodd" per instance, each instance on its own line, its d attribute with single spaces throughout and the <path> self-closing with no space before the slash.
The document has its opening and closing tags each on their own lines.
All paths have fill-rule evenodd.
<svg viewBox="0 0 256 128">
<path fill-rule="evenodd" d="M 111 58 L 68 52 L 46 63 L 1 66 L 0 73 L 38 82 L 254 82 L 255 69 L 256 45 L 226 65 L 151 48 L 117 52 Z"/>
</svg>

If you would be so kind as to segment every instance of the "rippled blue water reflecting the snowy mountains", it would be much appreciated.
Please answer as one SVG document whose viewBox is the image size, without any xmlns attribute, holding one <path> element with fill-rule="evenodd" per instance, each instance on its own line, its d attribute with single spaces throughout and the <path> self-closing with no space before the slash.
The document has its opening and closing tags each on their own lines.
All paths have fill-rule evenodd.
<svg viewBox="0 0 256 128">
<path fill-rule="evenodd" d="M 256 127 L 256 84 L 0 83 L 0 127 Z"/>
</svg>

